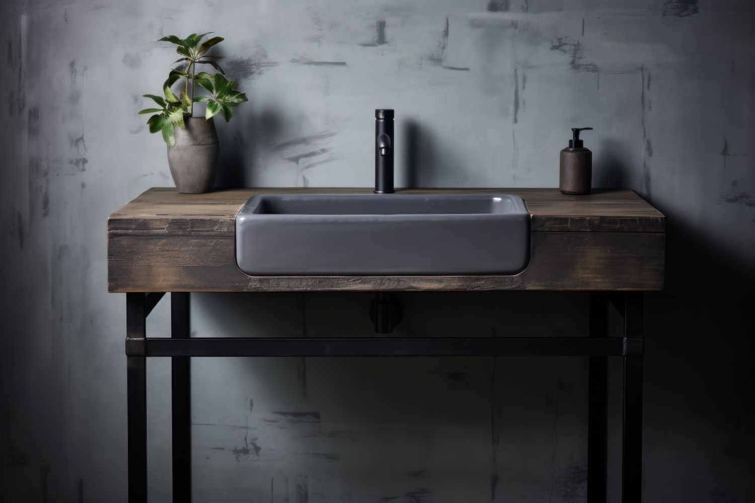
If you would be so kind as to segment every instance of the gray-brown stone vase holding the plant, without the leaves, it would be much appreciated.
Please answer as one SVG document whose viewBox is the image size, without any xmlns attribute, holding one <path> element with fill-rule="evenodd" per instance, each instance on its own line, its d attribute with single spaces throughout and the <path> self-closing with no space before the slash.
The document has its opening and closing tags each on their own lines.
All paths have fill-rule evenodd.
<svg viewBox="0 0 755 503">
<path fill-rule="evenodd" d="M 176 143 L 168 146 L 168 166 L 178 192 L 210 192 L 217 176 L 220 144 L 214 118 L 184 118 L 186 129 L 174 128 Z"/>
</svg>

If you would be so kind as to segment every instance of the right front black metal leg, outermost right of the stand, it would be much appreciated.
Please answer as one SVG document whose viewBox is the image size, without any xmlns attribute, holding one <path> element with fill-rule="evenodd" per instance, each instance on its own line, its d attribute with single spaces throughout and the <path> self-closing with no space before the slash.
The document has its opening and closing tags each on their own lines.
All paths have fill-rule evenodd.
<svg viewBox="0 0 755 503">
<path fill-rule="evenodd" d="M 627 293 L 624 304 L 624 337 L 643 339 L 643 294 Z M 643 354 L 624 356 L 623 455 L 621 501 L 636 503 L 643 492 Z"/>
</svg>

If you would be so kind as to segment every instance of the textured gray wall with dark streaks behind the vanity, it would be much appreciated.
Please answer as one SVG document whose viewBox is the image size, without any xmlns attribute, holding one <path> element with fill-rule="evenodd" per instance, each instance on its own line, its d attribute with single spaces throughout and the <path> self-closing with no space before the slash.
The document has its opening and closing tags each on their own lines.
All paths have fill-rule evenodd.
<svg viewBox="0 0 755 503">
<path fill-rule="evenodd" d="M 569 127 L 595 127 L 596 185 L 668 216 L 667 290 L 646 302 L 646 500 L 755 498 L 752 295 L 736 290 L 755 268 L 751 2 L 5 3 L 3 501 L 125 501 L 105 222 L 171 185 L 135 112 L 172 60 L 156 39 L 199 30 L 227 38 L 250 98 L 219 124 L 223 186 L 369 186 L 377 107 L 396 109 L 397 186 L 556 186 Z M 369 299 L 196 295 L 193 330 L 367 336 Z M 402 300 L 406 335 L 586 323 L 584 295 Z M 150 333 L 166 323 L 162 305 Z M 170 495 L 167 376 L 150 361 L 154 501 Z M 584 500 L 584 360 L 239 358 L 193 376 L 196 501 Z"/>
</svg>

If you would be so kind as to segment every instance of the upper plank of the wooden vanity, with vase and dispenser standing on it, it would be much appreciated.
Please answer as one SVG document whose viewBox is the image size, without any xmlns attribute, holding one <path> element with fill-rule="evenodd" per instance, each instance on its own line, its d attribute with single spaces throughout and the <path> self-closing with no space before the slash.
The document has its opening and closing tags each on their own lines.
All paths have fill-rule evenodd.
<svg viewBox="0 0 755 503">
<path fill-rule="evenodd" d="M 257 194 L 368 194 L 371 189 L 217 189 L 179 194 L 156 187 L 143 192 L 108 219 L 109 235 L 233 236 L 236 213 Z M 532 215 L 532 231 L 664 232 L 664 216 L 629 189 L 599 189 L 563 195 L 558 189 L 399 189 L 402 194 L 519 195 Z"/>
</svg>

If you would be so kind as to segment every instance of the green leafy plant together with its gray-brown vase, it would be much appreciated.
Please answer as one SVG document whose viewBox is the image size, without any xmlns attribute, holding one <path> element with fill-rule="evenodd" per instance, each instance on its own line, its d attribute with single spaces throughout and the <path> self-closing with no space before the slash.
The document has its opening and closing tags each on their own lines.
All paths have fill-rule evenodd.
<svg viewBox="0 0 755 503">
<path fill-rule="evenodd" d="M 168 80 L 162 86 L 163 97 L 144 94 L 160 108 L 143 109 L 140 114 L 151 114 L 147 124 L 150 133 L 162 132 L 162 139 L 168 144 L 168 166 L 178 192 L 200 194 L 212 189 L 217 176 L 217 162 L 220 158 L 220 145 L 217 141 L 214 116 L 222 113 L 226 122 L 233 117 L 233 108 L 247 101 L 244 93 L 227 80 L 223 69 L 217 64 L 220 56 L 207 52 L 221 37 L 202 38 L 209 33 L 192 33 L 186 38 L 168 35 L 160 41 L 176 44 L 180 58 L 171 64 Z M 197 65 L 212 66 L 217 72 L 197 72 Z M 176 96 L 171 87 L 183 78 L 184 85 Z M 206 96 L 195 96 L 196 84 L 207 91 Z M 205 103 L 205 116 L 194 117 L 194 103 Z"/>
</svg>

